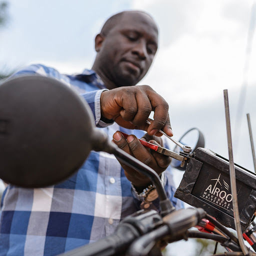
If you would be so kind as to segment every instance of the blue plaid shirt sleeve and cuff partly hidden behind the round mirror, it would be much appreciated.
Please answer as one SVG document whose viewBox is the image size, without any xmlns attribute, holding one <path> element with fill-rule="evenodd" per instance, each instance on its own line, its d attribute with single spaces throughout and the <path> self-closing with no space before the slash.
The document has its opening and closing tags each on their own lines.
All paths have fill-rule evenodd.
<svg viewBox="0 0 256 256">
<path fill-rule="evenodd" d="M 65 85 L 70 86 L 70 79 L 64 75 L 60 74 L 56 69 L 52 67 L 47 67 L 42 64 L 33 64 L 30 66 L 27 66 L 25 68 L 22 68 L 18 70 L 16 73 L 11 75 L 12 77 L 21 76 L 21 75 L 32 75 L 32 74 L 38 74 L 42 76 L 47 76 L 50 78 L 57 79 L 61 82 L 63 82 Z M 80 96 L 87 101 L 93 116 L 95 120 L 95 125 L 97 127 L 106 127 L 113 123 L 113 120 L 102 120 L 101 114 L 100 114 L 100 94 L 102 91 L 107 89 L 101 89 L 101 90 L 93 90 L 90 92 L 85 93 L 79 93 Z"/>
</svg>

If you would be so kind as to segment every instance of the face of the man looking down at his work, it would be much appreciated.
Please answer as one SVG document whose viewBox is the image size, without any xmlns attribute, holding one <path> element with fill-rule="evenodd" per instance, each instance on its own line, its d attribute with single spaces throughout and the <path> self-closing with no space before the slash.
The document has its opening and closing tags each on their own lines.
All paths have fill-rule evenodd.
<svg viewBox="0 0 256 256">
<path fill-rule="evenodd" d="M 100 69 L 116 86 L 135 85 L 157 50 L 158 31 L 145 13 L 126 12 L 104 37 L 98 51 Z"/>
</svg>

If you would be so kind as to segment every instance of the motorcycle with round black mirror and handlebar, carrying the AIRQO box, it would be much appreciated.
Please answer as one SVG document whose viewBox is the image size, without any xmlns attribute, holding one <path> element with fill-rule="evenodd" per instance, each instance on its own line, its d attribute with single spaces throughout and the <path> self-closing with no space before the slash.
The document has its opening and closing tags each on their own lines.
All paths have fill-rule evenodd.
<svg viewBox="0 0 256 256">
<path fill-rule="evenodd" d="M 41 107 L 45 98 L 48 103 Z M 67 101 L 69 104 L 66 104 Z M 24 112 L 29 114 L 24 115 Z M 67 124 L 61 130 L 54 122 L 48 125 L 56 116 Z M 68 122 L 69 116 L 75 116 L 72 123 Z M 190 237 L 212 239 L 227 250 L 221 254 L 215 254 L 214 251 L 213 255 L 256 255 L 244 245 L 240 237 L 242 235 L 255 250 L 254 173 L 233 165 L 236 179 L 229 181 L 232 165 L 230 157 L 227 160 L 208 149 L 198 147 L 199 140 L 202 140 L 199 132 L 192 152 L 179 151 L 178 147 L 171 151 L 175 159 L 172 164 L 185 169 L 175 196 L 198 208 L 175 210 L 166 196 L 159 175 L 111 143 L 107 135 L 96 129 L 93 123 L 94 118 L 87 103 L 55 79 L 21 76 L 9 79 L 0 86 L 0 178 L 3 180 L 24 187 L 51 185 L 71 175 L 89 152 L 95 150 L 112 153 L 126 165 L 147 175 L 157 190 L 159 212 L 139 210 L 124 218 L 112 235 L 61 255 L 157 256 L 161 255 L 160 248 L 167 243 Z M 22 133 L 23 130 L 26 132 Z M 66 138 L 70 130 L 74 131 L 72 140 Z M 10 133 L 11 140 L 7 139 Z M 179 141 L 182 139 L 185 136 Z M 16 146 L 24 145 L 24 141 L 29 141 L 25 150 L 24 147 Z M 65 150 L 59 146 L 60 141 Z M 48 153 L 48 157 L 43 160 L 38 159 L 42 151 Z M 69 157 L 66 159 L 65 155 Z M 16 157 L 15 161 L 13 156 Z M 62 159 L 66 159 L 64 166 L 60 164 Z M 238 197 L 241 195 L 239 200 L 231 192 L 233 183 L 238 187 Z M 219 184 L 224 189 L 220 190 Z M 199 231 L 189 230 L 193 226 L 197 226 Z M 238 238 L 225 226 L 236 229 Z M 237 227 L 242 229 L 243 234 Z"/>
</svg>

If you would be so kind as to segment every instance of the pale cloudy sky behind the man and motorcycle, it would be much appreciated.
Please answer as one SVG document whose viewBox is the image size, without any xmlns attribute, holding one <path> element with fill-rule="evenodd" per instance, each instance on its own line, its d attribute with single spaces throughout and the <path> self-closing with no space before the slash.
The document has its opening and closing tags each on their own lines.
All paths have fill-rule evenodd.
<svg viewBox="0 0 256 256">
<path fill-rule="evenodd" d="M 234 161 L 253 170 L 246 113 L 256 137 L 254 0 L 0 0 L 0 79 L 31 63 L 63 73 L 90 68 L 101 25 L 127 9 L 147 11 L 158 24 L 159 48 L 139 84 L 149 84 L 169 103 L 174 138 L 195 126 L 206 148 L 228 157 L 228 89 Z M 181 177 L 174 170 L 177 185 Z M 214 245 L 181 241 L 165 254 L 207 255 L 207 248 L 213 252 Z"/>
</svg>

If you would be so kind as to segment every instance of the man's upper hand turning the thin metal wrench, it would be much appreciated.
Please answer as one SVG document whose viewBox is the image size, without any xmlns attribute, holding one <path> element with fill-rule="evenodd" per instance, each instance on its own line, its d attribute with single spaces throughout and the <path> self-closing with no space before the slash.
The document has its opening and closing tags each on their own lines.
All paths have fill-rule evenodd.
<svg viewBox="0 0 256 256">
<path fill-rule="evenodd" d="M 128 129 L 142 129 L 149 135 L 161 136 L 159 129 L 172 136 L 168 104 L 148 85 L 123 86 L 105 90 L 100 95 L 101 115 Z M 146 120 L 154 111 L 154 120 Z"/>
</svg>

